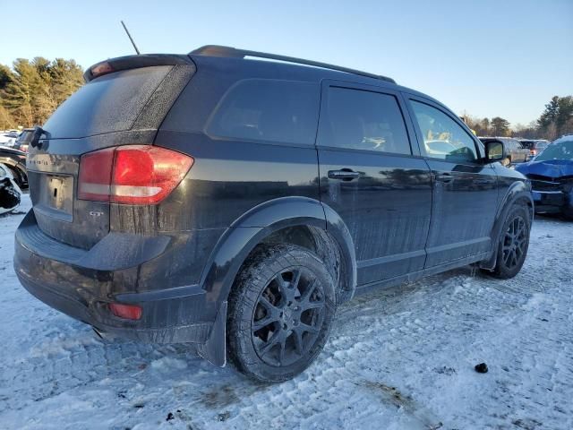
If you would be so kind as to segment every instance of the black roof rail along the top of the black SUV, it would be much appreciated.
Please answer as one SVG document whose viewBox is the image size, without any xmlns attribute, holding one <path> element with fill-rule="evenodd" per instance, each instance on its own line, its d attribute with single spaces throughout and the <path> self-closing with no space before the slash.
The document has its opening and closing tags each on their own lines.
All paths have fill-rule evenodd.
<svg viewBox="0 0 573 430">
<path fill-rule="evenodd" d="M 348 67 L 341 67 L 339 65 L 304 60 L 302 58 L 295 58 L 294 56 L 278 56 L 276 54 L 268 54 L 266 52 L 249 51 L 248 49 L 237 49 L 235 47 L 224 47 L 221 45 L 205 45 L 204 47 L 199 47 L 194 51 L 191 51 L 189 54 L 194 56 L 223 56 L 227 58 L 244 58 L 245 56 L 269 58 L 270 60 L 311 65 L 312 67 L 321 67 L 322 69 L 337 70 L 338 72 L 359 74 L 360 76 L 366 76 L 367 78 L 381 79 L 382 81 L 396 83 L 396 81 L 394 81 L 392 78 L 389 78 L 388 76 L 362 72 L 360 70 L 349 69 Z"/>
</svg>

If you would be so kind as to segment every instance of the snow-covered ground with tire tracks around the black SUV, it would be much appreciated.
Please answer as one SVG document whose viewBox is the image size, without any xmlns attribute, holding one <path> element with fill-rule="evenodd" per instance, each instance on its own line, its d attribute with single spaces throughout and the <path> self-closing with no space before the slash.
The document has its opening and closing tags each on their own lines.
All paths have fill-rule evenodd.
<svg viewBox="0 0 573 430">
<path fill-rule="evenodd" d="M 263 386 L 31 297 L 12 268 L 29 208 L 0 218 L 0 428 L 573 428 L 571 222 L 535 219 L 513 280 L 463 269 L 355 298 L 306 373 Z"/>
</svg>

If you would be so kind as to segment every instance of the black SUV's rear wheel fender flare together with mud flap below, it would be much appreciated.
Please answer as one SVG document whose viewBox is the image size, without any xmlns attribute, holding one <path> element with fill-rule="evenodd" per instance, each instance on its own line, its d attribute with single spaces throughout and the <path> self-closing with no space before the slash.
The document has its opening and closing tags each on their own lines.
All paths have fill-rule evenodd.
<svg viewBox="0 0 573 430">
<path fill-rule="evenodd" d="M 344 221 L 336 211 L 308 197 L 280 197 L 263 202 L 227 228 L 201 274 L 206 300 L 218 309 L 209 339 L 199 348 L 201 357 L 217 366 L 226 363 L 227 297 L 235 277 L 256 245 L 281 228 L 305 226 L 320 228 L 334 238 L 344 269 L 340 271 L 341 300 L 354 295 L 356 286 L 355 246 Z M 342 265 L 341 265 L 342 266 Z M 341 268 L 342 269 L 342 268 Z"/>
</svg>

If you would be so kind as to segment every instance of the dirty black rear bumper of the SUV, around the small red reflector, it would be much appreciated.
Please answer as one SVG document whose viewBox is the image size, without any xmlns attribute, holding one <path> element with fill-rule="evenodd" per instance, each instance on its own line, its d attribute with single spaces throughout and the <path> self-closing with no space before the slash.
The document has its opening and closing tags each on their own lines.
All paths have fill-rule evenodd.
<svg viewBox="0 0 573 430">
<path fill-rule="evenodd" d="M 109 245 L 114 246 L 114 241 Z M 102 252 L 106 250 L 98 250 Z M 115 254 L 112 249 L 108 252 Z M 30 211 L 16 231 L 14 270 L 33 296 L 99 331 L 153 343 L 202 344 L 209 340 L 218 309 L 206 299 L 204 289 L 188 285 L 140 291 L 140 273 L 149 271 L 152 262 L 101 270 L 82 264 L 94 261 L 89 253 L 46 236 Z M 169 268 L 163 269 L 169 272 Z M 164 285 L 169 282 L 165 280 Z M 111 302 L 140 305 L 141 319 L 116 317 L 109 311 Z"/>
</svg>

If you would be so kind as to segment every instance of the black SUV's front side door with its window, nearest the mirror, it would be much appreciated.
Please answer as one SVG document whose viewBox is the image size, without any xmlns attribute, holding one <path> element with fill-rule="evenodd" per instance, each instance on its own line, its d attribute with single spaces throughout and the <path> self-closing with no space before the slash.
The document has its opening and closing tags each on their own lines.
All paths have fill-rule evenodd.
<svg viewBox="0 0 573 430">
<path fill-rule="evenodd" d="M 432 169 L 432 223 L 426 268 L 490 251 L 497 176 L 481 143 L 447 109 L 409 97 L 421 150 Z"/>
</svg>

